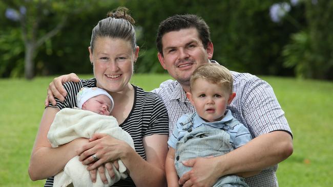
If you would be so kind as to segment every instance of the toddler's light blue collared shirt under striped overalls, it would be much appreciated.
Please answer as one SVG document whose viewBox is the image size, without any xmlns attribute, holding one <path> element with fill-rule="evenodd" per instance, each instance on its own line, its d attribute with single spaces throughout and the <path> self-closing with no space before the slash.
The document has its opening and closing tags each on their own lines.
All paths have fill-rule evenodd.
<svg viewBox="0 0 333 187">
<path fill-rule="evenodd" d="M 173 133 L 168 141 L 170 147 L 176 149 L 177 142 L 185 135 L 186 132 L 188 132 L 186 130 L 183 130 L 180 123 L 186 121 L 190 115 L 191 114 L 182 115 L 175 124 Z M 224 118 L 217 122 L 205 122 L 202 118 L 200 118 L 198 113 L 195 113 L 193 117 L 192 130 L 202 125 L 215 127 L 218 129 L 223 128 L 230 135 L 230 144 L 233 146 L 234 149 L 236 149 L 251 141 L 252 136 L 248 129 L 241 123 L 238 123 L 234 128 L 228 126 L 228 123 L 230 123 L 231 121 L 236 121 L 236 119 L 233 117 L 230 110 L 226 110 Z"/>
</svg>

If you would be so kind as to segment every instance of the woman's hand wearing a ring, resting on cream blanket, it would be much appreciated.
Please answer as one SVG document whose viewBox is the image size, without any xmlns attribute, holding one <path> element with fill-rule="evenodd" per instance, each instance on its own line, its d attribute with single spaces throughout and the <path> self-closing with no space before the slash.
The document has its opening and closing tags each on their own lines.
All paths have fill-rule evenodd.
<svg viewBox="0 0 333 187">
<path fill-rule="evenodd" d="M 91 139 L 89 139 L 89 141 L 90 143 L 82 146 L 77 152 L 79 155 L 79 161 L 84 165 L 89 165 L 87 168 L 89 171 L 101 166 L 102 163 L 113 160 L 117 161 L 126 155 L 129 150 L 134 151 L 126 142 L 120 141 L 107 134 L 96 133 Z M 92 155 L 95 155 L 98 160 L 95 160 Z"/>
</svg>

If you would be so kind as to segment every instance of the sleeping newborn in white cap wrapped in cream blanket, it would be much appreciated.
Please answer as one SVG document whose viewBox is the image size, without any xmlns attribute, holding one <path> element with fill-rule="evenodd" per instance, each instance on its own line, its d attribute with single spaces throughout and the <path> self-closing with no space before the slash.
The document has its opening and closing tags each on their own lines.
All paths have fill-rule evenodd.
<svg viewBox="0 0 333 187">
<path fill-rule="evenodd" d="M 133 139 L 129 133 L 118 126 L 117 120 L 110 116 L 114 101 L 109 93 L 103 89 L 83 87 L 76 95 L 77 107 L 64 108 L 57 112 L 48 132 L 48 139 L 52 147 L 67 144 L 79 137 L 91 138 L 95 133 L 106 133 L 114 138 L 127 142 L 133 149 Z M 100 115 L 101 114 L 101 115 Z M 98 155 L 92 155 L 98 160 Z M 97 173 L 96 182 L 90 179 L 87 166 L 82 165 L 78 156 L 69 160 L 64 171 L 54 177 L 53 186 L 111 186 L 120 179 L 127 178 L 126 167 L 118 160 L 119 171 L 113 166 L 115 173 L 112 179 L 105 170 L 108 184 L 104 184 Z"/>
</svg>

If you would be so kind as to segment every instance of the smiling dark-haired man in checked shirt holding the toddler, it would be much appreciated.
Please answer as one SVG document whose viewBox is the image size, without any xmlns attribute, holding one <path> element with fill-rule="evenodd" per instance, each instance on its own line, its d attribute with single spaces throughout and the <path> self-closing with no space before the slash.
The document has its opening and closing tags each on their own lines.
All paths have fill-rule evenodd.
<svg viewBox="0 0 333 187">
<path fill-rule="evenodd" d="M 168 109 L 171 134 L 181 115 L 194 112 L 194 107 L 186 99 L 190 77 L 201 64 L 216 63 L 211 60 L 214 47 L 209 27 L 196 15 L 175 15 L 162 21 L 156 43 L 161 65 L 175 79 L 165 81 L 153 90 Z M 232 73 L 236 98 L 228 109 L 249 129 L 254 139 L 222 156 L 184 162 L 185 166 L 193 167 L 179 179 L 179 184 L 184 187 L 212 186 L 221 176 L 238 174 L 246 177 L 246 172 L 258 170 L 262 172 L 246 178 L 249 186 L 278 186 L 277 163 L 293 153 L 292 132 L 272 87 L 256 76 Z M 52 91 L 58 99 L 63 99 L 66 92 L 61 88 L 61 81 L 75 80 L 75 74 L 55 79 L 50 84 L 46 102 L 50 99 L 54 103 Z"/>
</svg>

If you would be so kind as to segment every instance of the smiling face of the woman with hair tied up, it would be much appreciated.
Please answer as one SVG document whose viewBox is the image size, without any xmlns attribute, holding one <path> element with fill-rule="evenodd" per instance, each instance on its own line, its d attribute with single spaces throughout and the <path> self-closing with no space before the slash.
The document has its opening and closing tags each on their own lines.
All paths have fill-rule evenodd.
<svg viewBox="0 0 333 187">
<path fill-rule="evenodd" d="M 97 86 L 110 92 L 126 88 L 133 74 L 139 48 L 133 51 L 131 42 L 123 39 L 98 37 L 93 50 L 89 47 Z"/>
</svg>

